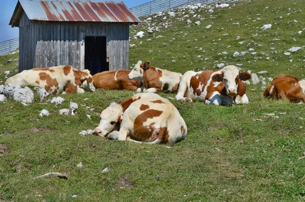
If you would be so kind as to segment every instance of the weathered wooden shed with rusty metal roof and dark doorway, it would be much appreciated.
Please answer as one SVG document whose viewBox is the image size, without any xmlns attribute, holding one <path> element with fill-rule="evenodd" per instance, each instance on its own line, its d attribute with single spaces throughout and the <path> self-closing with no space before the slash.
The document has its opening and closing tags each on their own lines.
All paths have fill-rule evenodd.
<svg viewBox="0 0 305 202">
<path fill-rule="evenodd" d="M 72 65 L 92 74 L 129 68 L 129 25 L 140 20 L 123 2 L 19 0 L 19 71 Z"/>
</svg>

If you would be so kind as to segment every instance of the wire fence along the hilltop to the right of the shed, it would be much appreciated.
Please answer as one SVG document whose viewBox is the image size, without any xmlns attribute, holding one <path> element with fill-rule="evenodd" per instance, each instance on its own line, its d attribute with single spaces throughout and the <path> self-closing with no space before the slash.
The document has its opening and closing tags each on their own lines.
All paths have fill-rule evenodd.
<svg viewBox="0 0 305 202">
<path fill-rule="evenodd" d="M 224 3 L 224 2 L 236 2 L 237 0 L 154 0 L 139 6 L 130 8 L 132 13 L 137 17 L 152 15 L 155 13 L 167 11 L 173 8 L 177 8 L 189 4 L 209 4 L 209 3 Z"/>
</svg>

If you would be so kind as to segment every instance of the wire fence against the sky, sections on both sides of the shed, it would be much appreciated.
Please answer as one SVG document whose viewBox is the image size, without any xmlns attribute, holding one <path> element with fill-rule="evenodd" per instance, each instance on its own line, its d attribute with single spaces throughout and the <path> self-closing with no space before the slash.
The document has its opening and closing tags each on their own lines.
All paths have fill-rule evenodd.
<svg viewBox="0 0 305 202">
<path fill-rule="evenodd" d="M 224 2 L 236 2 L 237 0 L 154 0 L 146 4 L 141 4 L 136 7 L 130 8 L 132 13 L 137 17 L 152 15 L 155 13 L 167 11 L 173 8 L 177 8 L 190 4 L 209 4 L 209 3 L 224 3 Z M 12 52 L 19 47 L 19 38 L 11 39 L 8 41 L 0 42 L 0 55 Z"/>
</svg>

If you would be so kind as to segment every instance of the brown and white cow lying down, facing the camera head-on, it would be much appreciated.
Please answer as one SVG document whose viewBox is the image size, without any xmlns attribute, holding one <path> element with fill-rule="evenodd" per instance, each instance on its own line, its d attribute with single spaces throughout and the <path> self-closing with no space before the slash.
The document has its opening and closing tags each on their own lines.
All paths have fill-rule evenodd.
<svg viewBox="0 0 305 202">
<path fill-rule="evenodd" d="M 251 78 L 247 72 L 229 65 L 221 70 L 187 71 L 180 83 L 176 100 L 198 100 L 205 104 L 248 104 L 246 85 L 242 81 Z"/>
</svg>

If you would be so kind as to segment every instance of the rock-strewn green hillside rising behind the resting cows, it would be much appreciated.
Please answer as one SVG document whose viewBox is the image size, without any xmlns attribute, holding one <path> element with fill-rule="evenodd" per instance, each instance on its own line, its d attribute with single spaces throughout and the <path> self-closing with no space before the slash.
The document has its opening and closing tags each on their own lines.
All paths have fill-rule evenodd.
<svg viewBox="0 0 305 202">
<path fill-rule="evenodd" d="M 303 8 L 301 0 L 252 0 L 224 8 L 217 4 L 184 6 L 145 16 L 142 23 L 132 26 L 130 66 L 150 60 L 153 66 L 184 73 L 223 63 L 239 65 L 245 71 L 265 70 L 273 77 L 281 73 L 300 77 L 305 49 L 289 49 L 305 44 Z M 265 24 L 271 28 L 263 30 Z M 144 36 L 134 39 L 139 31 Z M 235 51 L 243 55 L 233 56 Z"/>
</svg>

